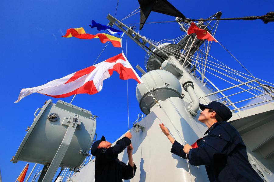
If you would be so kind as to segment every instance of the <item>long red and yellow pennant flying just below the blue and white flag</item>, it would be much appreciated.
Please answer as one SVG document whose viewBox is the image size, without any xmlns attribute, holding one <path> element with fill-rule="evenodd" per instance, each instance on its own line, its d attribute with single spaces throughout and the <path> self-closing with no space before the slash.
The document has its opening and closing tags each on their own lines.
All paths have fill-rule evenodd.
<svg viewBox="0 0 274 182">
<path fill-rule="evenodd" d="M 66 35 L 62 37 L 76 37 L 78 39 L 99 38 L 102 43 L 110 41 L 114 47 L 121 47 L 121 39 L 106 33 L 97 33 L 96 35 L 88 34 L 83 27 L 77 29 L 67 29 Z"/>
</svg>

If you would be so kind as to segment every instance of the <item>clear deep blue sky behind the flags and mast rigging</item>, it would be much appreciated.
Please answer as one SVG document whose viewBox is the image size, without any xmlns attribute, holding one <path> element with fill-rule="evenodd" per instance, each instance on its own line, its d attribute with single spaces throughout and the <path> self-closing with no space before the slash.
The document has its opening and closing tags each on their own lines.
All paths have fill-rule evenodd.
<svg viewBox="0 0 274 182">
<path fill-rule="evenodd" d="M 249 15 L 265 15 L 273 11 L 274 2 L 261 1 L 175 1 L 170 2 L 188 18 L 207 18 L 218 11 L 223 18 Z M 13 103 L 22 88 L 42 85 L 72 72 L 93 65 L 105 44 L 99 39 L 65 39 L 66 29 L 83 27 L 87 33 L 99 33 L 90 29 L 91 20 L 107 24 L 107 14 L 114 15 L 117 1 L 1 1 L 0 2 L 0 68 L 1 68 L 1 110 L 2 128 L 0 132 L 0 167 L 3 181 L 14 181 L 26 162 L 9 162 L 15 155 L 27 126 L 33 121 L 34 111 L 49 98 L 32 94 Z M 120 0 L 116 17 L 124 18 L 139 7 L 137 0 Z M 152 12 L 147 22 L 174 21 L 175 18 Z M 124 21 L 125 24 L 139 22 L 139 14 Z M 139 25 L 136 25 L 138 30 Z M 115 27 L 114 27 L 115 28 Z M 273 31 L 274 23 L 263 24 L 254 21 L 223 21 L 216 33 L 218 39 L 255 77 L 273 83 Z M 146 24 L 139 31 L 141 35 L 160 41 L 182 35 L 176 22 Z M 103 32 L 100 32 L 103 33 Z M 105 33 L 105 32 L 104 32 Z M 126 37 L 123 38 L 125 52 Z M 235 62 L 225 51 L 211 53 L 227 64 Z M 220 47 L 220 45 L 219 45 Z M 146 53 L 128 39 L 128 60 L 132 66 L 144 67 Z M 97 62 L 121 53 L 120 48 L 109 44 Z M 236 65 L 236 68 L 238 66 Z M 137 71 L 138 72 L 138 71 Z M 139 72 L 138 72 L 139 73 Z M 216 83 L 216 85 L 221 83 Z M 135 96 L 137 82 L 128 80 L 130 126 L 141 113 Z M 61 98 L 70 102 L 72 97 Z M 128 130 L 127 81 L 120 80 L 118 74 L 104 81 L 100 93 L 77 95 L 73 104 L 87 110 L 97 119 L 97 133 L 105 135 L 110 142 L 115 141 Z M 30 164 L 30 169 L 33 164 Z M 30 172 L 29 169 L 29 172 Z M 28 175 L 28 174 L 27 174 Z"/>
</svg>

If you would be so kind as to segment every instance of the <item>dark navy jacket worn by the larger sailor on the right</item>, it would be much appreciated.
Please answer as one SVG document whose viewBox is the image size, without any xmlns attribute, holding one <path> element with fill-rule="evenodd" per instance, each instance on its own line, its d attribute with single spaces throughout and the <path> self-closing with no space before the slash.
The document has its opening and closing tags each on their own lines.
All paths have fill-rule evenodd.
<svg viewBox="0 0 274 182">
<path fill-rule="evenodd" d="M 246 146 L 237 130 L 227 122 L 214 123 L 198 148 L 189 151 L 189 163 L 205 165 L 209 181 L 262 181 L 248 161 Z M 206 134 L 205 133 L 205 134 Z M 175 141 L 172 153 L 186 159 L 184 146 Z"/>
</svg>

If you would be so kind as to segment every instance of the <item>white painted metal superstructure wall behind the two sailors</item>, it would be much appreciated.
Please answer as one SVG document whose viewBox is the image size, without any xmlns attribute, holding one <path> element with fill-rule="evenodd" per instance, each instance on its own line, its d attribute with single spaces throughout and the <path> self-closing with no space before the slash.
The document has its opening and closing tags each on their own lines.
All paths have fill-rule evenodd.
<svg viewBox="0 0 274 182">
<path fill-rule="evenodd" d="M 172 136 L 183 145 L 184 140 L 192 144 L 203 137 L 207 127 L 188 114 L 188 105 L 178 97 L 169 98 L 161 103 L 162 108 L 158 106 L 140 121 L 146 126 L 145 131 L 135 133 L 133 129 L 130 130 L 134 147 L 133 160 L 137 170 L 134 179 L 125 181 L 191 181 L 187 160 L 170 153 L 172 144 L 159 127 L 163 122 Z M 120 138 L 122 137 L 124 135 Z M 118 159 L 128 163 L 127 153 L 120 153 Z M 73 182 L 94 181 L 93 170 L 94 160 L 72 177 Z M 204 166 L 190 165 L 190 171 L 192 181 L 208 181 Z"/>
</svg>

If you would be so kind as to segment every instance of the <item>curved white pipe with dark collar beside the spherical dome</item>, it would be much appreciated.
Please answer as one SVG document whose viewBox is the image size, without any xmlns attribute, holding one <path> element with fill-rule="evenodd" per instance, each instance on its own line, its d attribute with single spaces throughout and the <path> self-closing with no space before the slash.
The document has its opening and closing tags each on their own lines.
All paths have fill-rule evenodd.
<svg viewBox="0 0 274 182">
<path fill-rule="evenodd" d="M 200 108 L 200 106 L 199 106 L 200 100 L 194 91 L 193 82 L 190 79 L 185 78 L 182 81 L 182 85 L 183 85 L 184 90 L 188 92 L 190 99 L 192 100 L 192 106 L 188 106 L 188 112 L 192 116 L 197 116 L 197 111 Z"/>
</svg>

